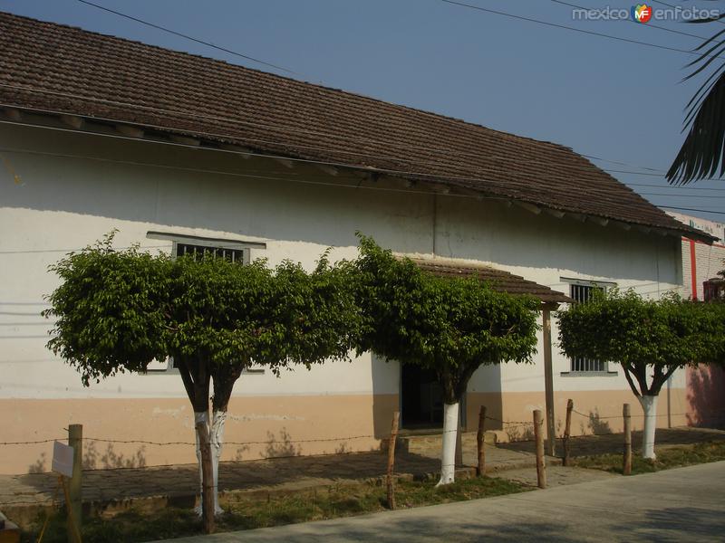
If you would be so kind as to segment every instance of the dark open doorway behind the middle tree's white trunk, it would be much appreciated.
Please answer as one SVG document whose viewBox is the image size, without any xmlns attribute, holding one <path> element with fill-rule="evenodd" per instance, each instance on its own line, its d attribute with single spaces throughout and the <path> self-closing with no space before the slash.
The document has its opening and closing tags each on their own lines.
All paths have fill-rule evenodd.
<svg viewBox="0 0 725 543">
<path fill-rule="evenodd" d="M 401 418 L 409 429 L 443 426 L 443 394 L 430 369 L 401 366 Z"/>
</svg>

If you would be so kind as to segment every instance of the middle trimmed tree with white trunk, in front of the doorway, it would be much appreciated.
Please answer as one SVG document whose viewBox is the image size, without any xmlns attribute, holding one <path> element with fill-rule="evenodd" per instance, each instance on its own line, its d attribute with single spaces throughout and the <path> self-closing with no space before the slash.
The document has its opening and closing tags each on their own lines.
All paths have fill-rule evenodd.
<svg viewBox="0 0 725 543">
<path fill-rule="evenodd" d="M 478 279 L 441 278 L 360 236 L 359 351 L 432 369 L 443 390 L 440 484 L 455 478 L 459 403 L 483 365 L 529 362 L 536 352 L 538 302 Z"/>
</svg>

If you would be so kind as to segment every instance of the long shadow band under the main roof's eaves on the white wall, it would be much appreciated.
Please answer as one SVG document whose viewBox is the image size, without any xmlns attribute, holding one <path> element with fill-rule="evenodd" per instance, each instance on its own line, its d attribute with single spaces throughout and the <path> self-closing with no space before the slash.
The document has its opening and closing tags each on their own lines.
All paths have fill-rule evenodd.
<svg viewBox="0 0 725 543">
<path fill-rule="evenodd" d="M 434 217 L 440 226 L 436 241 L 440 256 L 498 262 L 510 266 L 570 269 L 585 274 L 626 279 L 655 277 L 655 249 L 679 258 L 679 240 L 652 239 L 643 233 L 610 233 L 596 224 L 575 224 L 572 219 L 514 208 L 500 202 L 395 192 L 357 191 L 310 186 L 289 181 L 283 166 L 263 158 L 248 161 L 228 154 L 189 152 L 148 143 L 124 142 L 90 135 L 64 134 L 42 129 L 13 129 L 18 147 L 52 148 L 56 153 L 91 150 L 93 157 L 108 157 L 179 167 L 214 169 L 241 174 L 238 178 L 164 168 L 115 165 L 108 168 L 91 160 L 17 155 L 14 168 L 32 179 L 24 188 L 0 186 L 7 207 L 60 211 L 158 224 L 162 229 L 204 228 L 277 241 L 318 243 L 324 247 L 356 245 L 355 231 L 373 235 L 383 246 L 400 252 L 428 253 Z M 0 138 L 7 131 L 0 131 Z M 319 170 L 298 164 L 296 176 L 317 178 Z M 260 176 L 255 178 L 254 176 Z M 284 176 L 283 176 L 284 175 Z M 283 176 L 273 180 L 270 176 Z M 344 178 L 344 179 L 343 179 Z M 359 186 L 359 177 L 341 173 L 335 184 Z M 383 181 L 376 182 L 376 188 Z M 396 186 L 394 183 L 392 188 Z M 205 210 L 209 210 L 205 213 Z M 213 213 L 212 211 L 213 210 Z M 536 228 L 532 229 L 532 221 Z M 84 223 L 85 224 L 85 223 Z M 102 236 L 89 232 L 88 243 Z M 404 235 L 401 235 L 405 233 Z M 501 235 L 505 233 L 505 235 Z M 592 236 L 598 240 L 592 247 Z M 676 243 L 675 243 L 676 242 Z M 654 245 L 657 245 L 655 247 Z M 652 254 L 643 254 L 651 247 Z M 622 267 L 619 252 L 638 262 Z M 583 258 L 583 254 L 588 254 Z M 662 271 L 664 273 L 664 271 Z M 660 281 L 677 282 L 674 266 Z"/>
</svg>

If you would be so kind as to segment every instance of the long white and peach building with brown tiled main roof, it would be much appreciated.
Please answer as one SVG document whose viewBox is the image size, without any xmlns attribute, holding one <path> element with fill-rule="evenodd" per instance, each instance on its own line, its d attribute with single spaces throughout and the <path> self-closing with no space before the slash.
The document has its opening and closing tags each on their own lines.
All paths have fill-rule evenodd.
<svg viewBox="0 0 725 543">
<path fill-rule="evenodd" d="M 119 246 L 223 244 L 308 267 L 330 246 L 353 258 L 361 231 L 436 264 L 535 281 L 526 284 L 544 301 L 583 300 L 596 286 L 679 289 L 681 236 L 711 241 L 568 148 L 10 14 L 0 14 L 0 108 L 5 442 L 63 438 L 72 423 L 90 438 L 193 442 L 173 370 L 84 388 L 44 347 L 52 323 L 39 312 L 58 285 L 48 265 L 113 228 Z M 552 328 L 556 342 L 556 318 Z M 535 364 L 478 371 L 470 429 L 479 405 L 504 421 L 544 407 L 545 347 L 540 333 Z M 556 424 L 573 398 L 591 414 L 575 432 L 616 430 L 604 417 L 633 403 L 622 371 L 552 350 Z M 430 381 L 369 354 L 281 378 L 249 373 L 229 405 L 227 442 L 258 443 L 229 445 L 223 458 L 369 450 L 396 409 L 404 426 L 440 421 Z M 684 424 L 683 373 L 667 397 L 661 413 Z M 328 441 L 300 441 L 310 439 Z M 96 467 L 195 461 L 186 445 L 91 441 L 86 451 Z M 0 472 L 47 470 L 49 452 L 0 447 Z"/>
</svg>

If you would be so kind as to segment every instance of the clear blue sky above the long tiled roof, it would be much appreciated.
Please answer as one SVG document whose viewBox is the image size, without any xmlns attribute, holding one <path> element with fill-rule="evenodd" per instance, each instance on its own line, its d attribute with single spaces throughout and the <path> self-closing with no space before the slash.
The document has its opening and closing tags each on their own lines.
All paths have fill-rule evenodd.
<svg viewBox="0 0 725 543">
<path fill-rule="evenodd" d="M 680 148 L 682 108 L 697 82 L 681 83 L 690 55 L 488 14 L 440 0 L 92 0 L 284 66 L 296 79 L 435 111 L 530 138 L 556 141 L 597 161 L 658 205 L 725 212 L 725 183 L 672 188 L 663 176 Z M 461 0 L 509 14 L 691 50 L 700 40 L 631 21 L 574 20 L 551 0 Z M 571 0 L 586 8 L 621 1 Z M 725 2 L 683 2 L 725 10 Z M 652 2 L 654 8 L 665 8 Z M 0 10 L 72 24 L 275 71 L 103 12 L 78 0 L 0 0 Z M 718 24 L 652 21 L 709 36 Z M 289 75 L 284 71 L 276 71 Z M 654 186 L 636 186 L 655 185 Z M 701 190 L 701 189 L 714 190 Z M 695 189 L 695 190 L 693 190 Z M 660 195 L 663 194 L 663 195 Z M 683 212 L 725 222 L 725 214 Z"/>
</svg>

